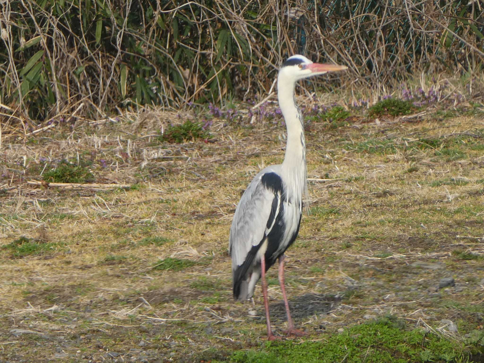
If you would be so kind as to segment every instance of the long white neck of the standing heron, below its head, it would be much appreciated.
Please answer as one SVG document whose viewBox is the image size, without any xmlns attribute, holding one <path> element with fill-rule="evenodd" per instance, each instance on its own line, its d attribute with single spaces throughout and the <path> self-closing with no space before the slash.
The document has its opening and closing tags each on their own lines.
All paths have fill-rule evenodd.
<svg viewBox="0 0 484 363">
<path fill-rule="evenodd" d="M 279 107 L 287 127 L 287 147 L 282 167 L 293 184 L 288 187 L 293 189 L 294 196 L 299 199 L 306 193 L 306 145 L 302 114 L 294 99 L 294 86 L 293 82 L 284 79 L 279 78 L 277 81 Z"/>
</svg>

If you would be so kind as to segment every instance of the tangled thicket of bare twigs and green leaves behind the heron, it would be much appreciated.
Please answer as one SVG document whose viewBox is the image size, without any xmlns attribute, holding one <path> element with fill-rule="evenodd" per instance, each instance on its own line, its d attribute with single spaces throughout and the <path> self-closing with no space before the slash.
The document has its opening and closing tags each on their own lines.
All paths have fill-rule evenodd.
<svg viewBox="0 0 484 363">
<path fill-rule="evenodd" d="M 269 91 L 294 53 L 370 86 L 484 60 L 483 12 L 468 0 L 7 0 L 0 13 L 0 117 L 25 127 L 243 99 Z"/>
</svg>

